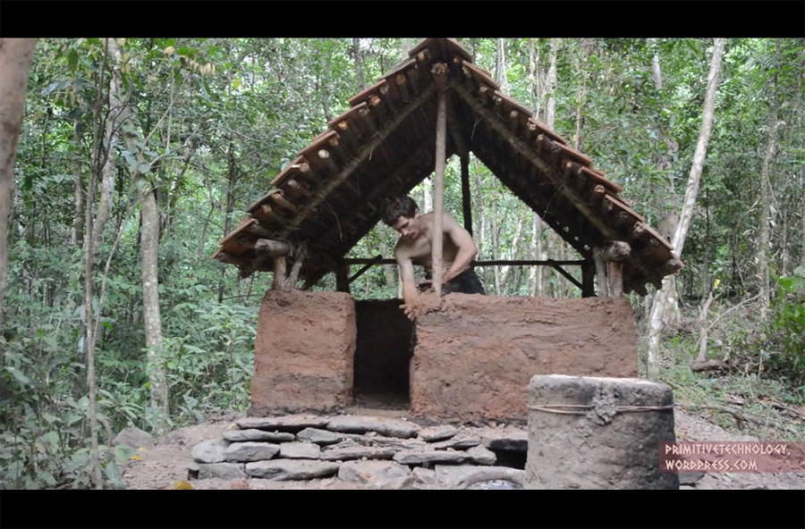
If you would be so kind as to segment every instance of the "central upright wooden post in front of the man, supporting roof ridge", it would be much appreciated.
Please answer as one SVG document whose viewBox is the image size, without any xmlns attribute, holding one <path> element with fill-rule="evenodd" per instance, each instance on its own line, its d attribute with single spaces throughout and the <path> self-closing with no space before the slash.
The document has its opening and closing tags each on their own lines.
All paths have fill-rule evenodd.
<svg viewBox="0 0 805 529">
<path fill-rule="evenodd" d="M 436 63 L 431 70 L 436 84 L 436 176 L 433 179 L 433 244 L 431 260 L 433 290 L 442 295 L 442 239 L 445 211 L 445 158 L 447 140 L 447 65 Z"/>
</svg>

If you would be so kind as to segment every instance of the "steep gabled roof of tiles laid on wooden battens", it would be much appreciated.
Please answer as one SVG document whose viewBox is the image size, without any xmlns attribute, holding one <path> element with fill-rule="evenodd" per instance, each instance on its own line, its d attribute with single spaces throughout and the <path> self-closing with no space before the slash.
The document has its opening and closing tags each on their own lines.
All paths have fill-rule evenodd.
<svg viewBox="0 0 805 529">
<path fill-rule="evenodd" d="M 434 171 L 434 63 L 449 66 L 447 156 L 471 151 L 585 259 L 614 240 L 631 245 L 624 290 L 645 294 L 682 266 L 671 246 L 618 194 L 592 161 L 499 91 L 455 40 L 428 38 L 411 49 L 351 108 L 301 149 L 250 216 L 220 241 L 214 256 L 243 276 L 272 270 L 257 239 L 280 239 L 308 256 L 301 279 L 318 281 L 380 220 L 386 197 L 408 193 Z M 292 262 L 293 256 L 289 258 Z"/>
</svg>

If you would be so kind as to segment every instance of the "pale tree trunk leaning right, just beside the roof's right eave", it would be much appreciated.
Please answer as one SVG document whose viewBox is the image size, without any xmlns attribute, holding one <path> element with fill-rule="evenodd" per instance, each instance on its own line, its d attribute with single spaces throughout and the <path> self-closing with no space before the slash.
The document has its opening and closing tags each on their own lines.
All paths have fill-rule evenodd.
<svg viewBox="0 0 805 529">
<path fill-rule="evenodd" d="M 713 114 L 715 111 L 716 89 L 718 88 L 718 73 L 721 70 L 721 58 L 723 54 L 724 38 L 716 38 L 713 48 L 713 58 L 708 74 L 708 92 L 705 97 L 704 110 L 702 111 L 699 141 L 693 153 L 693 164 L 691 165 L 691 174 L 688 178 L 688 187 L 685 189 L 682 213 L 680 214 L 679 223 L 676 224 L 674 239 L 671 242 L 676 257 L 682 256 L 685 238 L 691 227 L 693 206 L 696 204 L 696 197 L 699 194 L 699 181 L 701 179 L 705 156 L 708 153 L 710 129 L 713 125 Z M 659 339 L 663 330 L 662 322 L 665 309 L 671 301 L 672 296 L 674 296 L 673 289 L 674 283 L 672 281 L 663 281 L 663 288 L 657 290 L 657 294 L 654 297 L 654 306 L 651 308 L 651 317 L 648 323 L 648 378 L 650 379 L 657 379 L 659 376 Z"/>
</svg>

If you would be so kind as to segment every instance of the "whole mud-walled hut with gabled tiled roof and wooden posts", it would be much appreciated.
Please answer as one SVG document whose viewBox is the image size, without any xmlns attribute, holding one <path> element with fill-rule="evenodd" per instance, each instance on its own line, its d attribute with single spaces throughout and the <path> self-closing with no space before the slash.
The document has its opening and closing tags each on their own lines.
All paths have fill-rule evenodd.
<svg viewBox="0 0 805 529">
<path fill-rule="evenodd" d="M 619 196 L 621 186 L 502 94 L 458 42 L 428 38 L 409 55 L 352 97 L 220 241 L 214 258 L 243 277 L 275 274 L 258 317 L 252 415 L 332 412 L 359 399 L 434 420 L 524 421 L 534 374 L 636 376 L 623 293 L 645 296 L 678 271 L 673 248 Z M 412 340 L 399 300 L 349 294 L 350 282 L 391 256 L 344 256 L 380 221 L 387 197 L 435 169 L 438 218 L 451 155 L 461 159 L 471 231 L 470 151 L 580 256 L 507 263 L 552 266 L 580 298 L 450 294 L 417 320 Z M 504 263 L 476 263 L 488 264 Z M 352 265 L 364 266 L 351 275 Z M 582 281 L 566 266 L 580 266 Z M 337 291 L 310 291 L 326 273 Z"/>
</svg>

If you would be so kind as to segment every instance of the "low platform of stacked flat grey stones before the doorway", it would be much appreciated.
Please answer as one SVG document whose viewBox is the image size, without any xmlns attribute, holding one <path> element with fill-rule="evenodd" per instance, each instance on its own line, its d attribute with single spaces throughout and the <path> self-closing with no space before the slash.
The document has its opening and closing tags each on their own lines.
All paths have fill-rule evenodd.
<svg viewBox="0 0 805 529">
<path fill-rule="evenodd" d="M 223 439 L 192 449 L 191 477 L 309 480 L 337 476 L 380 488 L 469 483 L 472 474 L 509 476 L 494 466 L 494 449 L 527 450 L 523 431 L 477 435 L 450 425 L 422 429 L 399 419 L 371 416 L 249 417 Z M 491 474 L 490 474 L 491 473 Z M 475 479 L 474 481 L 479 481 Z"/>
</svg>

